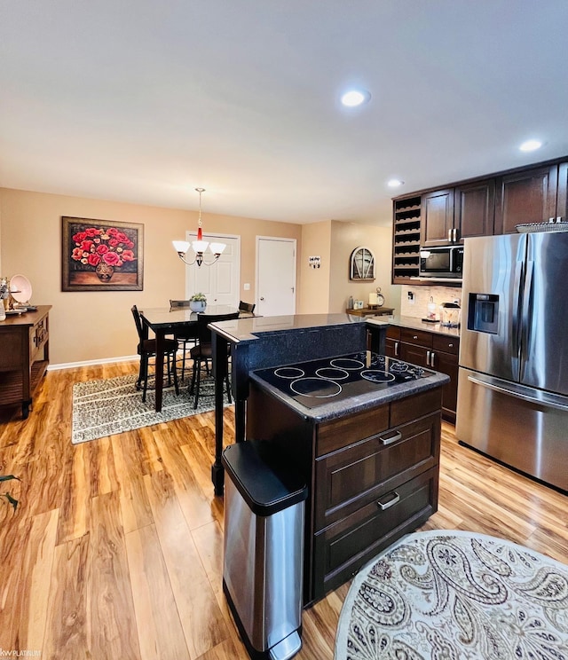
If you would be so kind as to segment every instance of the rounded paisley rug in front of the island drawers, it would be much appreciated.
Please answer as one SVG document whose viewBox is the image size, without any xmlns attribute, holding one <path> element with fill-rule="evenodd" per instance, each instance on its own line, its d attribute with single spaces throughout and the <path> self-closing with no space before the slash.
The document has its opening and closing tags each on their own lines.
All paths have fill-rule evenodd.
<svg viewBox="0 0 568 660">
<path fill-rule="evenodd" d="M 361 570 L 335 660 L 566 660 L 568 566 L 502 538 L 409 534 Z"/>
</svg>

